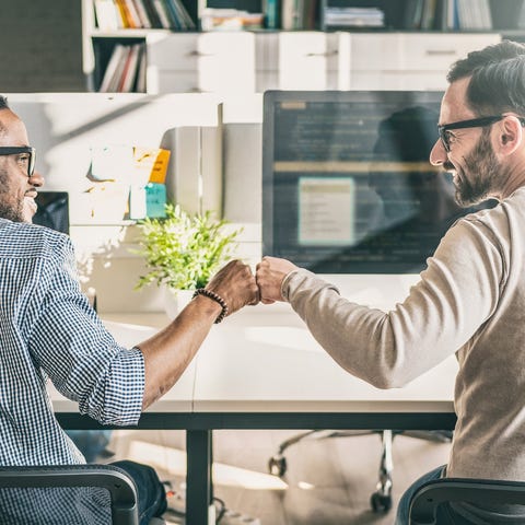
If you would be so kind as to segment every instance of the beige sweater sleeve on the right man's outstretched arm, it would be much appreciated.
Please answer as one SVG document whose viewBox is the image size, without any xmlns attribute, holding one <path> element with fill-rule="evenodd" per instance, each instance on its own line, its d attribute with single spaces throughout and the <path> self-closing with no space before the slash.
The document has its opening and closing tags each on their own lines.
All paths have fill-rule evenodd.
<svg viewBox="0 0 525 525">
<path fill-rule="evenodd" d="M 497 306 L 504 275 L 498 240 L 476 219 L 458 221 L 427 262 L 388 313 L 347 301 L 304 269 L 285 279 L 283 296 L 343 369 L 380 388 L 400 387 L 475 336 Z"/>
</svg>

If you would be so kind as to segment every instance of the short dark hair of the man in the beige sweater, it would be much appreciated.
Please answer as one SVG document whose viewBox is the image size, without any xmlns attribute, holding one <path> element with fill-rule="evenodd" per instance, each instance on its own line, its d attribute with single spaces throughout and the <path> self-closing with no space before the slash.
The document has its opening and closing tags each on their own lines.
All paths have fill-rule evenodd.
<svg viewBox="0 0 525 525">
<path fill-rule="evenodd" d="M 451 83 L 470 77 L 467 105 L 477 115 L 499 115 L 514 112 L 525 116 L 525 45 L 503 40 L 451 67 L 446 80 Z"/>
</svg>

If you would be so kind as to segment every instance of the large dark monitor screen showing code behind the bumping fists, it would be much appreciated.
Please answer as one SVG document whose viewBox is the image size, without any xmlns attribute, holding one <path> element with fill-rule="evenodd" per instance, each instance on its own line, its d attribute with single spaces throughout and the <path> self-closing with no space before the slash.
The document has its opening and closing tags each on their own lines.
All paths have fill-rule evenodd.
<svg viewBox="0 0 525 525">
<path fill-rule="evenodd" d="M 467 211 L 429 163 L 442 93 L 264 97 L 262 253 L 320 273 L 415 273 Z"/>
</svg>

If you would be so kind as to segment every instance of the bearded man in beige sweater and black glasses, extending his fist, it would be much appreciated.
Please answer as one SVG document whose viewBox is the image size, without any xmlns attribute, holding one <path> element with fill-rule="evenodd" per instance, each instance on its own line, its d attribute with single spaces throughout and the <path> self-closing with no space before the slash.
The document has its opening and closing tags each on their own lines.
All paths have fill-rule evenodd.
<svg viewBox="0 0 525 525">
<path fill-rule="evenodd" d="M 330 355 L 380 387 L 406 385 L 456 354 L 457 424 L 442 476 L 525 480 L 525 46 L 503 42 L 453 65 L 430 162 L 452 173 L 456 200 L 499 203 L 459 219 L 408 298 L 385 314 L 339 296 L 288 260 L 265 257 L 261 301 L 288 301 Z M 438 523 L 525 523 L 522 508 L 440 506 Z"/>
</svg>

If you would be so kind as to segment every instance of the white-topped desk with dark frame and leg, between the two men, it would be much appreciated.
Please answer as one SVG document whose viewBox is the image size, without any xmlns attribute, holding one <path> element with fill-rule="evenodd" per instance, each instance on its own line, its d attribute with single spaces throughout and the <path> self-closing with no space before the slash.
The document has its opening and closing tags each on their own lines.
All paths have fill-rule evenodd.
<svg viewBox="0 0 525 525">
<path fill-rule="evenodd" d="M 128 347 L 167 322 L 148 314 L 104 317 Z M 213 326 L 138 428 L 186 430 L 187 523 L 207 525 L 214 429 L 453 429 L 456 370 L 450 359 L 405 388 L 380 390 L 337 365 L 288 305 L 258 305 Z M 51 398 L 66 428 L 97 428 L 54 388 Z"/>
</svg>

